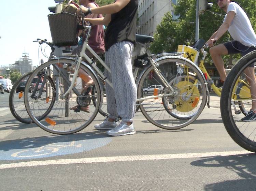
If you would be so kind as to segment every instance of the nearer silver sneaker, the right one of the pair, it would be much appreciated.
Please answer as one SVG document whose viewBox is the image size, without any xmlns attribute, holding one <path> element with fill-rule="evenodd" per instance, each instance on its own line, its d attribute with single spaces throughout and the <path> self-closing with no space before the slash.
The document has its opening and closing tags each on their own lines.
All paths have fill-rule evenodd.
<svg viewBox="0 0 256 191">
<path fill-rule="evenodd" d="M 134 130 L 133 123 L 128 126 L 124 122 L 120 123 L 119 126 L 114 129 L 107 131 L 107 134 L 112 136 L 131 135 L 134 133 L 136 133 L 136 131 Z"/>
</svg>

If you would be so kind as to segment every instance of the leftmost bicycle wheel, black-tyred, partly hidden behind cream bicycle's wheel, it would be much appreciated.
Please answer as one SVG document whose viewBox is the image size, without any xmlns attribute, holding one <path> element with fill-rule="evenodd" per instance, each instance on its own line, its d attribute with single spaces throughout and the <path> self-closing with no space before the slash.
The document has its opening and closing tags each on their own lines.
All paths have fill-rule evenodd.
<svg viewBox="0 0 256 191">
<path fill-rule="evenodd" d="M 26 124 L 33 123 L 33 121 L 29 117 L 29 115 L 26 111 L 26 108 L 24 105 L 24 98 L 23 98 L 22 94 L 17 92 L 17 87 L 19 86 L 20 82 L 22 82 L 24 79 L 28 78 L 31 74 L 32 74 L 32 72 L 29 72 L 27 74 L 24 74 L 22 77 L 20 77 L 14 83 L 13 88 L 10 92 L 10 96 L 9 96 L 9 106 L 10 106 L 10 111 L 11 111 L 12 115 L 18 121 L 20 121 L 22 123 L 26 123 Z M 50 84 L 52 86 L 54 86 L 52 78 L 49 77 L 48 80 L 49 80 Z M 30 93 L 30 91 L 29 91 L 29 93 Z M 52 105 L 54 104 L 54 100 L 53 100 L 53 102 L 51 102 L 51 104 Z M 39 121 L 42 120 L 48 113 L 49 113 L 49 111 L 46 111 L 42 116 L 38 117 L 38 120 Z"/>
</svg>

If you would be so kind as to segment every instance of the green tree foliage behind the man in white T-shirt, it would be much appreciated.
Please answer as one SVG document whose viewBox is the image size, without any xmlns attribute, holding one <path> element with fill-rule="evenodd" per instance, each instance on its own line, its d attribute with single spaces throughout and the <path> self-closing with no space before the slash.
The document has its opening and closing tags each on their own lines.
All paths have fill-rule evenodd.
<svg viewBox="0 0 256 191">
<path fill-rule="evenodd" d="M 209 1 L 210 2 L 210 1 Z M 221 10 L 216 1 L 213 0 L 213 7 L 199 16 L 199 39 L 207 41 L 211 35 L 218 30 L 223 23 L 225 12 Z M 245 10 L 251 20 L 254 30 L 256 29 L 256 3 L 255 0 L 239 0 L 238 3 Z M 179 20 L 172 20 L 171 13 L 166 13 L 161 23 L 156 28 L 155 41 L 150 50 L 153 53 L 176 52 L 180 44 L 192 45 L 195 42 L 196 29 L 196 0 L 179 1 L 174 7 L 175 15 Z M 226 32 L 217 44 L 230 40 Z M 234 56 L 235 59 L 239 55 Z M 208 57 L 209 59 L 209 57 Z M 225 63 L 228 63 L 229 56 L 225 56 Z"/>
</svg>

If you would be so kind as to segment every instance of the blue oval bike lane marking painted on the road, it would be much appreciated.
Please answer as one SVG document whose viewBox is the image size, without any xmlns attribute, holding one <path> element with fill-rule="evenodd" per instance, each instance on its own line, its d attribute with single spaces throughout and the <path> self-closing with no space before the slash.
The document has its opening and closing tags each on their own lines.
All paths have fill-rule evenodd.
<svg viewBox="0 0 256 191">
<path fill-rule="evenodd" d="M 83 134 L 83 133 L 81 133 Z M 61 135 L 26 138 L 1 143 L 0 160 L 25 160 L 69 155 L 93 150 L 112 141 L 102 135 Z"/>
</svg>

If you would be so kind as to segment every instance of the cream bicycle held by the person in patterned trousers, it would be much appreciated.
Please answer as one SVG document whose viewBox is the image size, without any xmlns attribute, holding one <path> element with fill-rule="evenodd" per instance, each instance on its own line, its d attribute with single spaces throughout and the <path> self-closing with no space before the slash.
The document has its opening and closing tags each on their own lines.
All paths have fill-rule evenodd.
<svg viewBox="0 0 256 191">
<path fill-rule="evenodd" d="M 82 19 L 83 22 L 83 19 Z M 32 95 L 24 95 L 25 106 L 31 119 L 42 129 L 55 134 L 70 134 L 81 131 L 87 127 L 96 117 L 102 105 L 102 86 L 100 78 L 113 85 L 108 78 L 98 69 L 96 64 L 86 54 L 88 49 L 106 70 L 110 69 L 103 60 L 88 46 L 88 38 L 91 27 L 83 24 L 84 33 L 87 35 L 83 42 L 80 56 L 55 58 L 40 65 L 29 77 L 28 84 L 38 74 L 53 77 L 56 85 L 55 104 L 51 112 L 41 122 L 37 119 L 39 115 L 36 104 L 45 102 L 38 99 L 38 93 L 33 91 Z M 144 39 L 145 40 L 145 39 Z M 175 53 L 176 54 L 176 53 Z M 82 58 L 87 61 L 84 62 Z M 148 121 L 164 129 L 179 129 L 193 122 L 202 112 L 207 102 L 207 83 L 199 68 L 182 56 L 173 56 L 173 53 L 148 55 L 143 59 L 147 62 L 137 80 L 138 100 L 142 114 Z M 89 74 L 94 81 L 94 92 L 79 92 L 75 80 L 82 70 Z M 73 76 L 70 82 L 69 74 Z M 153 73 L 153 78 L 148 78 Z M 183 82 L 184 74 L 189 76 L 190 82 Z M 177 80 L 178 79 L 178 80 Z M 194 80 L 194 81 L 193 81 Z M 191 83 L 193 81 L 193 83 Z M 159 94 L 157 89 L 153 93 L 143 94 L 143 87 L 147 84 L 162 85 L 163 92 Z M 197 88 L 195 88 L 197 87 Z M 25 92 L 28 90 L 25 87 Z M 72 90 L 72 91 L 71 91 Z M 195 93 L 194 93 L 195 90 Z M 89 105 L 88 111 L 78 113 L 70 112 L 69 108 Z M 34 111 L 35 110 L 35 111 Z"/>
</svg>

